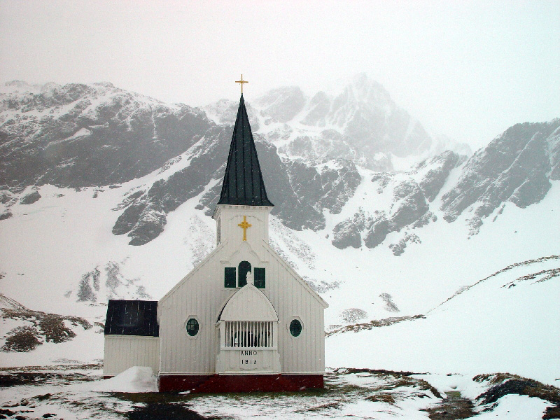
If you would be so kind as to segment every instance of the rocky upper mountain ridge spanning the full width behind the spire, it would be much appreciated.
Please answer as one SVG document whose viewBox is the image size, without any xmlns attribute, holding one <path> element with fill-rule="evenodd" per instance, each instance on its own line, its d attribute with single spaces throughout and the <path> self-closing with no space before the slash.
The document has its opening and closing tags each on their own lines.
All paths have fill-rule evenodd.
<svg viewBox="0 0 560 420">
<path fill-rule="evenodd" d="M 0 160 L 0 201 L 4 204 L 0 220 L 10 217 L 10 207 L 18 200 L 22 204 L 40 200 L 36 187 L 47 183 L 71 188 L 118 186 L 153 171 L 168 175 L 123 197 L 116 207 L 120 214 L 113 225 L 114 235 L 128 235 L 131 245 L 146 244 L 165 229 L 170 212 L 203 192 L 197 209 L 206 214 L 213 210 L 225 167 L 229 125 L 216 125 L 200 109 L 169 106 L 111 83 L 38 87 L 18 81 L 9 87 L 36 93 L 0 96 L 0 149 L 4 152 Z M 315 131 L 322 139 L 326 135 L 334 141 L 327 143 L 329 153 L 335 153 L 334 144 L 347 145 L 350 137 L 344 130 L 363 119 L 362 112 L 382 108 L 389 116 L 400 112 L 388 92 L 365 75 L 353 78 L 340 92 L 325 96 L 330 98 L 325 116 L 337 120 L 332 127 L 342 131 L 324 127 Z M 391 232 L 434 223 L 438 214 L 451 223 L 465 211 L 473 212 L 468 223 L 470 235 L 475 235 L 484 218 L 498 207 L 503 211 L 504 202 L 518 207 L 539 202 L 552 185 L 550 181 L 560 177 L 558 119 L 514 125 L 468 160 L 444 151 L 407 172 L 379 172 L 362 166 L 359 153 L 356 158 L 350 149 L 337 150 L 339 156 L 321 153 L 312 146 L 317 140 L 313 130 L 300 135 L 307 128 L 293 120 L 307 118 L 306 109 L 313 100 L 309 102 L 298 87 L 283 87 L 255 99 L 257 107 L 247 104 L 247 109 L 255 122 L 262 167 L 267 168 L 263 172 L 265 184 L 276 203 L 272 213 L 289 228 L 323 230 L 328 215 L 341 214 L 346 207 L 344 213 L 349 216 L 332 227 L 331 243 L 341 249 L 362 244 L 374 248 Z M 346 111 L 340 114 L 341 109 Z M 220 123 L 235 116 L 231 111 L 231 104 L 225 101 L 207 107 Z M 351 116 L 340 119 L 341 115 Z M 401 127 L 405 126 L 410 129 L 409 123 Z M 377 134 L 370 130 L 368 136 Z M 359 136 L 353 139 L 358 146 L 363 142 Z M 294 154 L 294 148 L 300 147 L 297 145 L 314 149 L 303 157 Z M 344 158 L 349 152 L 354 159 Z M 391 151 L 374 153 L 377 162 L 386 162 L 386 167 L 392 165 L 391 156 Z M 437 198 L 459 167 L 456 185 Z M 381 202 L 390 206 L 369 205 L 370 211 L 361 205 L 351 204 L 353 210 L 346 206 L 357 201 L 352 200 L 356 191 L 367 182 L 374 184 L 371 189 L 377 190 L 378 197 L 388 195 Z M 19 197 L 29 186 L 34 187 Z M 482 204 L 475 206 L 477 202 Z M 420 242 L 421 237 L 408 232 L 391 244 L 393 253 L 401 255 L 411 241 Z"/>
</svg>

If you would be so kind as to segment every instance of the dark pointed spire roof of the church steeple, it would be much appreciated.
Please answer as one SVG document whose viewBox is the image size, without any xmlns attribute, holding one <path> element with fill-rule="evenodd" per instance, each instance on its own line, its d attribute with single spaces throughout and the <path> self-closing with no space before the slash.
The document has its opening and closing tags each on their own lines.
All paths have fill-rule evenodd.
<svg viewBox="0 0 560 420">
<path fill-rule="evenodd" d="M 262 181 L 257 149 L 251 132 L 243 94 L 239 99 L 233 128 L 228 165 L 225 167 L 222 193 L 218 204 L 241 206 L 274 206 L 267 197 Z"/>
</svg>

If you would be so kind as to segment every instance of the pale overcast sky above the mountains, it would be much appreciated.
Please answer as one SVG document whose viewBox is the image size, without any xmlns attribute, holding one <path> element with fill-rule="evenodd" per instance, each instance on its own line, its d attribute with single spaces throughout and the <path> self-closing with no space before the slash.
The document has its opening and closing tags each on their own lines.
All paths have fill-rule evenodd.
<svg viewBox="0 0 560 420">
<path fill-rule="evenodd" d="M 560 1 L 5 1 L 0 82 L 111 81 L 199 106 L 365 72 L 473 147 L 560 117 Z"/>
</svg>

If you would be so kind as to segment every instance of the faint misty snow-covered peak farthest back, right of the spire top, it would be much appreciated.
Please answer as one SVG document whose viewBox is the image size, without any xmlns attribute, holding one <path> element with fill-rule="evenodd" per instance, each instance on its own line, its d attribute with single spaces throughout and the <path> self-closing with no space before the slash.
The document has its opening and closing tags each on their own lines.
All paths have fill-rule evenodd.
<svg viewBox="0 0 560 420">
<path fill-rule="evenodd" d="M 237 103 L 222 100 L 204 111 L 216 123 L 231 125 Z M 365 74 L 311 97 L 296 86 L 271 90 L 250 103 L 248 114 L 255 122 L 253 131 L 265 135 L 280 155 L 311 165 L 339 158 L 389 171 L 430 152 L 442 152 L 444 146 L 470 154 L 468 146 L 444 136 L 433 141 L 419 121 Z"/>
</svg>

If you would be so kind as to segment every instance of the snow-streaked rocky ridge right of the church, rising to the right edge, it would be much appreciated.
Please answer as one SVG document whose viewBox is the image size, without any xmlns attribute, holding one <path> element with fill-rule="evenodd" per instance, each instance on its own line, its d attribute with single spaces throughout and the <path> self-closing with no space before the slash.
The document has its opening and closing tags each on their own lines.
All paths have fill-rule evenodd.
<svg viewBox="0 0 560 420">
<path fill-rule="evenodd" d="M 469 233 L 475 235 L 486 218 L 492 214 L 493 220 L 498 218 L 506 203 L 525 208 L 540 202 L 552 181 L 560 179 L 559 165 L 560 119 L 556 119 L 514 125 L 466 162 L 446 151 L 404 174 L 373 174 L 370 181 L 377 200 L 339 222 L 332 244 L 359 247 L 363 239 L 371 248 L 390 232 L 419 228 L 438 216 L 452 222 L 461 214 L 468 214 Z M 393 253 L 402 253 L 408 241 L 419 237 L 405 235 L 392 246 Z"/>
</svg>

